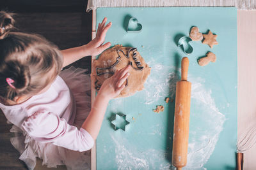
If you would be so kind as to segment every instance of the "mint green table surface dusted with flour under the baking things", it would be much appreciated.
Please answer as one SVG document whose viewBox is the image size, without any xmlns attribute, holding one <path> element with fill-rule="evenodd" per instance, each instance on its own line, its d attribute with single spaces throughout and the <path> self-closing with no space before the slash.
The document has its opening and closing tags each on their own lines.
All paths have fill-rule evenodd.
<svg viewBox="0 0 256 170">
<path fill-rule="evenodd" d="M 98 8 L 97 24 L 113 22 L 106 36 L 112 45 L 138 48 L 151 67 L 144 90 L 113 99 L 97 138 L 97 169 L 170 169 L 172 167 L 175 83 L 180 60 L 189 58 L 192 83 L 188 163 L 184 169 L 234 169 L 237 139 L 237 11 L 236 8 Z M 141 32 L 126 32 L 127 18 L 135 17 Z M 210 48 L 193 41 L 194 52 L 177 47 L 192 26 L 218 35 Z M 197 59 L 207 52 L 215 63 L 201 67 Z M 164 99 L 170 97 L 170 102 Z M 173 100 L 173 101 L 172 101 Z M 157 105 L 164 111 L 154 113 Z M 111 125 L 116 113 L 130 122 L 125 131 Z"/>
</svg>

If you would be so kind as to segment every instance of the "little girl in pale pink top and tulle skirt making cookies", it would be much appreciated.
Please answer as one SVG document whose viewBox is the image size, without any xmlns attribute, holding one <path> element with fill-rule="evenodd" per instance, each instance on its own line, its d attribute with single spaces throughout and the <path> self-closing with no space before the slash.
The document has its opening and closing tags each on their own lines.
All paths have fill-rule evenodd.
<svg viewBox="0 0 256 170">
<path fill-rule="evenodd" d="M 92 110 L 90 76 L 61 68 L 109 48 L 109 42 L 103 45 L 111 27 L 106 20 L 87 45 L 59 51 L 41 36 L 11 32 L 12 16 L 0 11 L 0 108 L 13 124 L 11 143 L 29 169 L 36 157 L 48 167 L 90 169 L 90 153 L 84 151 L 94 145 L 108 102 L 124 89 L 130 66 L 104 81 Z"/>
</svg>

